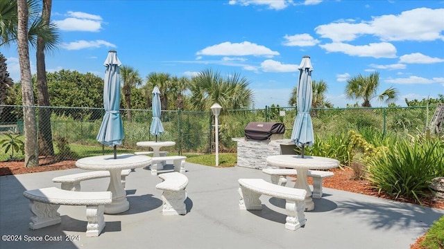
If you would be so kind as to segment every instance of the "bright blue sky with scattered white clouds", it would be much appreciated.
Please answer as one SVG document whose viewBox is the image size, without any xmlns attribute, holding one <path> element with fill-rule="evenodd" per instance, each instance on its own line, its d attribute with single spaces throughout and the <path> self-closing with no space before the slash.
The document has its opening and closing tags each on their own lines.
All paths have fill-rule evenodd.
<svg viewBox="0 0 444 249">
<path fill-rule="evenodd" d="M 47 71 L 104 76 L 108 50 L 145 79 L 153 72 L 191 76 L 205 68 L 250 80 L 255 107 L 288 106 L 298 65 L 309 55 L 312 80 L 345 107 L 347 79 L 380 73 L 404 99 L 444 94 L 444 1 L 53 1 L 62 44 Z M 1 48 L 19 81 L 16 46 Z M 35 73 L 35 51 L 31 50 Z M 359 104 L 361 101 L 359 101 Z M 386 106 L 373 102 L 374 107 Z"/>
</svg>

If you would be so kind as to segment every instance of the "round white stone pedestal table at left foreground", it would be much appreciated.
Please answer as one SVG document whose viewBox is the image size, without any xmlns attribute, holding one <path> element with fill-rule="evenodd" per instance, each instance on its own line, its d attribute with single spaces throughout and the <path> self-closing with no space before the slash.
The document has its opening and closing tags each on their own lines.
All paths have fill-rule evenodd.
<svg viewBox="0 0 444 249">
<path fill-rule="evenodd" d="M 76 167 L 87 170 L 108 170 L 110 172 L 110 185 L 108 191 L 112 192 L 112 203 L 105 205 L 105 214 L 118 214 L 130 209 L 130 203 L 126 199 L 126 191 L 121 183 L 122 169 L 135 169 L 151 165 L 148 156 L 133 154 L 120 154 L 114 159 L 114 155 L 91 156 L 76 161 Z"/>
</svg>

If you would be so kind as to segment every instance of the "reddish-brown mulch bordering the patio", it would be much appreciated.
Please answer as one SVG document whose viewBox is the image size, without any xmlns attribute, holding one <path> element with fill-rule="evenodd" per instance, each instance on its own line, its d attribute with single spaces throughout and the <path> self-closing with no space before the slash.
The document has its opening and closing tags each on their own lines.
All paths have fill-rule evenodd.
<svg viewBox="0 0 444 249">
<path fill-rule="evenodd" d="M 0 176 L 26 174 L 33 172 L 46 172 L 59 169 L 73 169 L 76 167 L 75 160 L 58 160 L 57 158 L 51 157 L 40 157 L 39 163 L 40 166 L 38 167 L 26 168 L 24 167 L 23 161 L 0 162 Z M 379 198 L 393 199 L 393 197 L 387 196 L 384 193 L 378 194 L 377 190 L 371 187 L 369 181 L 356 180 L 354 178 L 353 170 L 350 168 L 332 169 L 332 172 L 334 172 L 334 176 L 330 178 L 325 178 L 323 181 L 323 187 L 330 187 L 336 190 L 344 190 L 348 192 L 355 192 L 358 194 L 367 194 L 370 196 L 377 196 Z M 309 184 L 311 184 L 310 178 Z M 396 201 L 416 203 L 416 201 L 409 199 L 396 199 Z M 444 210 L 444 201 L 422 199 L 421 202 L 422 205 L 425 205 L 427 207 Z M 411 245 L 410 249 L 421 249 L 419 246 L 419 242 L 422 241 L 422 239 L 424 239 L 424 236 L 418 238 L 416 243 Z"/>
</svg>

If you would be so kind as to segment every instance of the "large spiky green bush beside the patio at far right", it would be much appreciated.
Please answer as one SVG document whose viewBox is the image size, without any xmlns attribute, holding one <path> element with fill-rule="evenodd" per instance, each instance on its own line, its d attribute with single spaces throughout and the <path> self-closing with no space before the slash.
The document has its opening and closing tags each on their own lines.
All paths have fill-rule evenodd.
<svg viewBox="0 0 444 249">
<path fill-rule="evenodd" d="M 444 147 L 439 140 L 402 139 L 368 160 L 368 179 L 379 192 L 415 199 L 430 193 L 429 184 L 444 164 Z"/>
</svg>

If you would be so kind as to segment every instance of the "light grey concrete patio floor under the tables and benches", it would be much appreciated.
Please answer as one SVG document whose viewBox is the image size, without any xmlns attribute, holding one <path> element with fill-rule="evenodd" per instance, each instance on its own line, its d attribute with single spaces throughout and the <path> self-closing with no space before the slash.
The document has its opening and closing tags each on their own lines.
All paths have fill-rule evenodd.
<svg viewBox="0 0 444 249">
<path fill-rule="evenodd" d="M 257 169 L 192 163 L 185 169 L 189 178 L 185 216 L 163 216 L 162 192 L 155 189 L 160 178 L 148 169 L 135 169 L 126 178 L 130 210 L 105 214 L 106 226 L 99 237 L 85 236 L 85 206 L 60 206 L 62 223 L 28 229 L 31 212 L 24 190 L 60 187 L 51 179 L 82 169 L 1 176 L 0 248 L 409 248 L 444 214 L 444 210 L 324 188 L 323 199 L 314 199 L 315 210 L 305 212 L 305 227 L 291 231 L 284 228 L 281 199 L 262 196 L 263 210 L 239 210 L 237 179 L 270 181 L 268 175 Z M 84 181 L 82 190 L 104 191 L 108 182 L 107 178 Z M 21 235 L 22 241 L 3 241 L 3 235 Z M 61 236 L 63 241 L 25 241 L 26 236 L 46 235 Z"/>
</svg>

